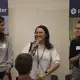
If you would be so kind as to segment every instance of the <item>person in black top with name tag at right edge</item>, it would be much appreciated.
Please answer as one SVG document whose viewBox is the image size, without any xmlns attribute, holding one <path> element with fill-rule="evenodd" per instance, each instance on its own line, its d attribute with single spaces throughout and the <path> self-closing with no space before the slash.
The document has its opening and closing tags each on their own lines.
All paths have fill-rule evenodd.
<svg viewBox="0 0 80 80">
<path fill-rule="evenodd" d="M 71 80 L 80 80 L 80 20 L 75 29 L 77 34 L 70 43 L 69 61 L 73 65 Z"/>
</svg>

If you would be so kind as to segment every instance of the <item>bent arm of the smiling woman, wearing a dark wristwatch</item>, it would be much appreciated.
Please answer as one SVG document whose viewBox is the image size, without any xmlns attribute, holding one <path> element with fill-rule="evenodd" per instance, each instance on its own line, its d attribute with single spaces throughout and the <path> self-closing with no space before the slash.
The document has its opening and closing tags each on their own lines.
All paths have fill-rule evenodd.
<svg viewBox="0 0 80 80">
<path fill-rule="evenodd" d="M 51 63 L 52 63 L 51 67 L 47 71 L 45 71 L 44 74 L 40 74 L 39 78 L 41 78 L 41 79 L 44 78 L 48 74 L 54 72 L 60 66 L 60 57 L 55 48 L 51 52 Z M 46 74 L 46 72 L 47 72 L 47 74 Z"/>
</svg>

